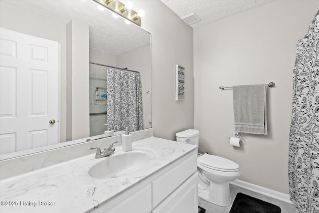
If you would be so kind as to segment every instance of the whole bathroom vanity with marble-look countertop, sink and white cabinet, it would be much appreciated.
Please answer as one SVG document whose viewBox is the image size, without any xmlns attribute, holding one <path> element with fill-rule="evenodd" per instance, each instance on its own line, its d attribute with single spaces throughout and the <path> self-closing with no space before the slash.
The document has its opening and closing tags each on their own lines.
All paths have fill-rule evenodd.
<svg viewBox="0 0 319 213">
<path fill-rule="evenodd" d="M 0 212 L 197 212 L 197 146 L 150 137 L 115 148 L 1 180 Z"/>
</svg>

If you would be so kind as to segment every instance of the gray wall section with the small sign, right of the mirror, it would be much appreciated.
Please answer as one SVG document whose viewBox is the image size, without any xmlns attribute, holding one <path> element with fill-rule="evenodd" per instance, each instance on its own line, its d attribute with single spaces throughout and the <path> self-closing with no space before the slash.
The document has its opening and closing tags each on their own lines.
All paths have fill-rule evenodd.
<svg viewBox="0 0 319 213">
<path fill-rule="evenodd" d="M 159 0 L 134 0 L 142 28 L 152 34 L 152 127 L 156 137 L 194 125 L 193 29 Z M 185 67 L 185 101 L 175 101 L 175 65 Z"/>
</svg>

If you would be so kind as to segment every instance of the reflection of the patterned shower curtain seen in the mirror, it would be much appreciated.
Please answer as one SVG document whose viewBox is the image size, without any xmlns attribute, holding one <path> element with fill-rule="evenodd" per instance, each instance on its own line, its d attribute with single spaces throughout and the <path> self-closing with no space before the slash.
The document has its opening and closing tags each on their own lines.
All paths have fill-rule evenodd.
<svg viewBox="0 0 319 213">
<path fill-rule="evenodd" d="M 107 69 L 107 122 L 111 130 L 143 129 L 142 84 L 139 72 Z"/>
</svg>

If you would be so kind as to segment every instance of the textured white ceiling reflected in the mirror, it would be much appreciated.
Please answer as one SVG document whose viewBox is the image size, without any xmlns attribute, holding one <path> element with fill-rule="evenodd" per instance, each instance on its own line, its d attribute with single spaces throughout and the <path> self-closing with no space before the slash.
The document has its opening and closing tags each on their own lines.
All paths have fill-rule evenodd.
<svg viewBox="0 0 319 213">
<path fill-rule="evenodd" d="M 90 26 L 90 48 L 119 55 L 150 43 L 150 34 L 124 19 L 114 18 L 108 9 L 92 0 L 4 0 L 39 15 L 68 23 L 71 19 Z"/>
</svg>

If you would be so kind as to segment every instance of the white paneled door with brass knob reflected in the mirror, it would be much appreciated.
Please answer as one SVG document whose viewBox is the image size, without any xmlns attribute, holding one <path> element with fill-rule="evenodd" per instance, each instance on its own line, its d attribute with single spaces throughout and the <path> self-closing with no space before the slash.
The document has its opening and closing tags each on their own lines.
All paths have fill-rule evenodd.
<svg viewBox="0 0 319 213">
<path fill-rule="evenodd" d="M 0 154 L 58 143 L 57 119 L 58 42 L 0 28 Z"/>
</svg>

